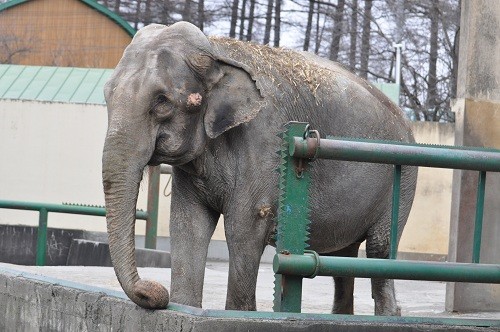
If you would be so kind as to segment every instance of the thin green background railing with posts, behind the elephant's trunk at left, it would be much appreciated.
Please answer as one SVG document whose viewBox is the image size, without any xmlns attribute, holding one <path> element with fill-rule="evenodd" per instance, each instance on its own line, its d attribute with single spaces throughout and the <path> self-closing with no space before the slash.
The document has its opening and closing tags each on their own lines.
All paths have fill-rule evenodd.
<svg viewBox="0 0 500 332">
<path fill-rule="evenodd" d="M 156 238 L 158 232 L 158 202 L 160 188 L 160 174 L 171 174 L 170 165 L 150 167 L 148 181 L 147 211 L 136 210 L 136 218 L 146 220 L 145 247 L 156 249 Z M 106 209 L 102 206 L 87 206 L 75 204 L 49 204 L 21 201 L 0 200 L 0 208 L 14 210 L 38 211 L 38 235 L 36 243 L 37 266 L 44 266 L 47 253 L 47 224 L 49 212 L 79 214 L 87 216 L 106 216 Z"/>
</svg>

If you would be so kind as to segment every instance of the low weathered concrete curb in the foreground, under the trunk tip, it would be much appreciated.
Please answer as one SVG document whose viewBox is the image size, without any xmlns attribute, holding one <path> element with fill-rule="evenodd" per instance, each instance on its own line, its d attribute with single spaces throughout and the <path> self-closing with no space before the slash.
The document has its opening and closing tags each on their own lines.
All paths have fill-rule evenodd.
<svg viewBox="0 0 500 332">
<path fill-rule="evenodd" d="M 0 268 L 0 331 L 498 331 L 498 327 L 431 325 L 425 319 L 412 323 L 372 317 L 361 322 L 359 316 L 331 317 L 305 319 L 285 313 L 271 317 L 176 304 L 168 310 L 145 310 L 121 292 Z"/>
</svg>

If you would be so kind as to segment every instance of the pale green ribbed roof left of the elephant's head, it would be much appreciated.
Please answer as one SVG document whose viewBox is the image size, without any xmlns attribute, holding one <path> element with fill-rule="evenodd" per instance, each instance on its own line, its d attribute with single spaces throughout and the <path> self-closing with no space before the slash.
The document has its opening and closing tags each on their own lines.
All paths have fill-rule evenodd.
<svg viewBox="0 0 500 332">
<path fill-rule="evenodd" d="M 0 99 L 104 105 L 112 69 L 0 65 Z"/>
</svg>

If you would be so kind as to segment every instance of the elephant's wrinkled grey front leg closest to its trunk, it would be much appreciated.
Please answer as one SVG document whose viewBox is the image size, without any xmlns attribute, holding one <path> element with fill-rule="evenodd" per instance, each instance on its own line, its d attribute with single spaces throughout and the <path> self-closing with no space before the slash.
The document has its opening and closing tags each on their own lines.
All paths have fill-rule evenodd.
<svg viewBox="0 0 500 332">
<path fill-rule="evenodd" d="M 172 195 L 171 236 L 171 301 L 200 307 L 210 238 L 219 214 L 197 204 L 186 191 Z"/>
</svg>

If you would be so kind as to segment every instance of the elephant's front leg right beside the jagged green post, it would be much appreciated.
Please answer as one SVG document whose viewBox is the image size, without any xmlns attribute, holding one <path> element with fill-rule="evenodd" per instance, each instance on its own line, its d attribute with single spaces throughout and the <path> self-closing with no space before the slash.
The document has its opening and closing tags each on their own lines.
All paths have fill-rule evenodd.
<svg viewBox="0 0 500 332">
<path fill-rule="evenodd" d="M 256 310 L 260 258 L 266 246 L 266 221 L 258 216 L 225 219 L 229 249 L 226 310 Z"/>
</svg>

